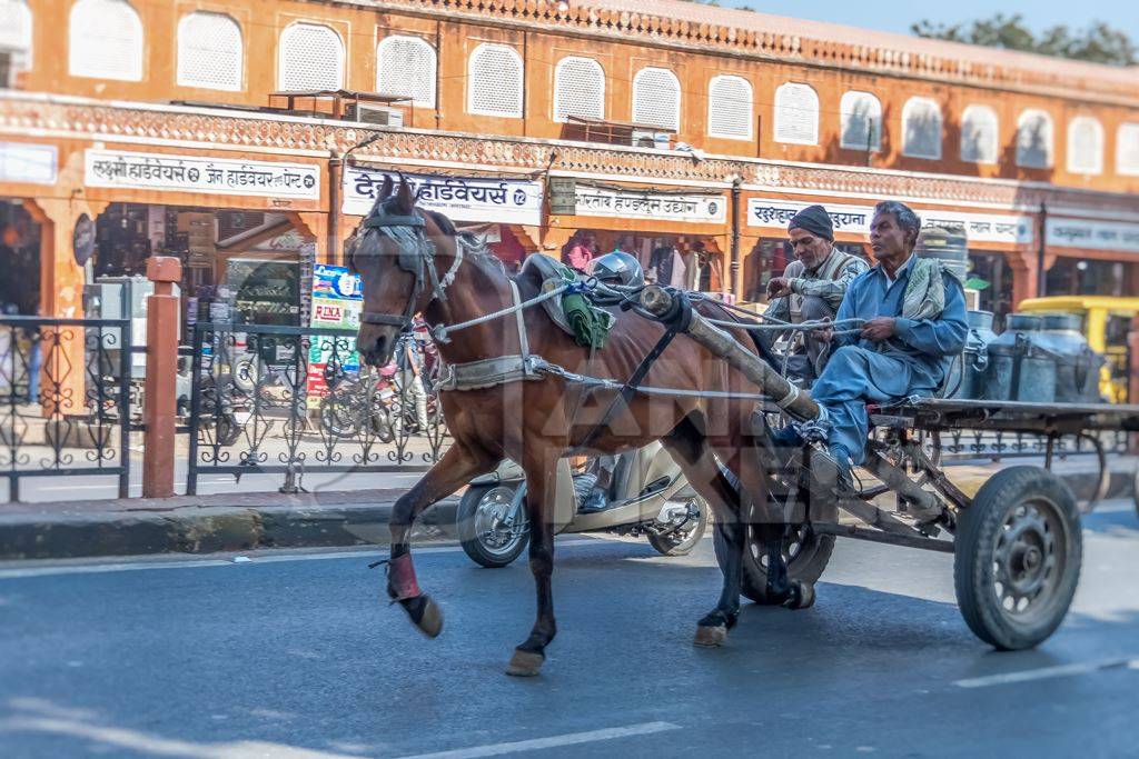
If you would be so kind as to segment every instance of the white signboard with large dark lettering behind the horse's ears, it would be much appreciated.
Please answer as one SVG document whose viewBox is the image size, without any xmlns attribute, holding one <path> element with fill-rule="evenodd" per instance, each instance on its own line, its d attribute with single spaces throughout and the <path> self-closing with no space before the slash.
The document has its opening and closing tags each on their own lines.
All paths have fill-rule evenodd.
<svg viewBox="0 0 1139 759">
<path fill-rule="evenodd" d="M 349 167 L 344 172 L 344 203 L 341 211 L 366 216 L 376 203 L 384 178 L 399 181 L 395 172 Z M 418 193 L 420 208 L 437 211 L 451 221 L 498 224 L 542 223 L 542 183 L 487 176 L 434 176 L 404 174 Z"/>
</svg>

